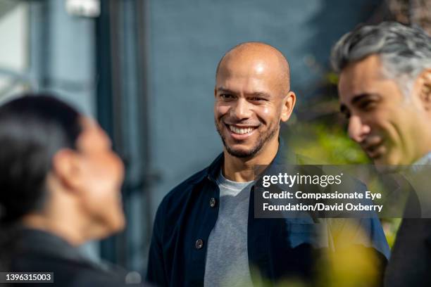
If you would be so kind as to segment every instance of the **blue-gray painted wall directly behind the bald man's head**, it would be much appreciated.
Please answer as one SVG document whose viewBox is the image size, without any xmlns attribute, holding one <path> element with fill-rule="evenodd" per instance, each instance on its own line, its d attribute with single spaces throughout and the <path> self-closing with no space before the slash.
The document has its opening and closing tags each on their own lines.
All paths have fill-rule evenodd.
<svg viewBox="0 0 431 287">
<path fill-rule="evenodd" d="M 366 20 L 380 1 L 152 0 L 150 1 L 151 146 L 162 179 L 153 206 L 222 151 L 213 125 L 215 67 L 246 41 L 280 49 L 292 69 L 292 89 L 308 96 L 322 77 L 338 37 Z M 155 210 L 154 210 L 155 211 Z"/>
</svg>

